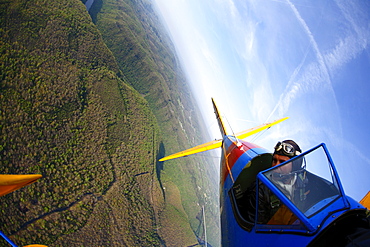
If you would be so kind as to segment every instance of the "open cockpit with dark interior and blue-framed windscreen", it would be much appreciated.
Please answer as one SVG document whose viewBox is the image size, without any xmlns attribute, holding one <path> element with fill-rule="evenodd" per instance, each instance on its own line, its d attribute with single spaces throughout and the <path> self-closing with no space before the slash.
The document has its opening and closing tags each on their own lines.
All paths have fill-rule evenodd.
<svg viewBox="0 0 370 247">
<path fill-rule="evenodd" d="M 243 229 L 314 234 L 330 215 L 349 207 L 325 144 L 278 166 L 261 166 L 265 169 L 254 179 L 243 175 L 256 173 L 261 160 L 271 162 L 271 155 L 255 157 L 229 191 Z"/>
</svg>

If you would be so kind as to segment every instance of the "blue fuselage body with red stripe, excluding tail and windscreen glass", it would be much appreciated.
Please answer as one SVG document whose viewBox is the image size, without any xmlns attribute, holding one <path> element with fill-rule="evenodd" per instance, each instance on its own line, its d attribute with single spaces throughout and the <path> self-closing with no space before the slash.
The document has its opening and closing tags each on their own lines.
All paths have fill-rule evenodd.
<svg viewBox="0 0 370 247">
<path fill-rule="evenodd" d="M 325 147 L 324 149 L 326 150 Z M 344 195 L 339 177 L 335 182 L 338 195 L 335 198 L 333 197 L 334 199 L 332 199 L 330 203 L 320 206 L 320 210 L 317 210 L 317 213 L 313 215 L 308 215 L 308 213 L 299 211 L 299 209 L 295 207 L 295 204 L 289 202 L 289 200 L 284 197 L 283 193 L 274 188 L 273 184 L 268 181 L 268 179 L 264 178 L 263 173 L 261 173 L 261 171 L 265 171 L 271 167 L 271 162 L 267 162 L 267 164 L 264 165 L 253 164 L 253 160 L 257 160 L 263 156 L 267 157 L 268 155 L 271 157 L 271 154 L 269 154 L 267 150 L 258 147 L 255 144 L 237 140 L 232 136 L 225 136 L 222 145 L 220 174 L 222 246 L 276 247 L 292 246 L 292 243 L 299 243 L 299 246 L 307 246 L 316 237 L 323 236 L 325 231 L 327 232 L 328 228 L 333 227 L 335 225 L 332 224 L 334 221 L 337 221 L 340 218 L 345 218 L 346 215 L 351 214 L 353 211 L 361 212 L 361 215 L 364 214 L 364 207 L 350 197 Z M 305 155 L 305 153 L 302 155 Z M 268 160 L 266 157 L 264 157 L 264 159 Z M 330 157 L 329 161 L 331 161 Z M 261 166 L 260 170 L 258 166 Z M 333 164 L 332 166 L 334 175 L 337 176 L 335 167 Z M 248 171 L 248 169 L 251 169 L 251 171 Z M 234 197 L 237 197 L 235 196 L 235 185 L 241 184 L 241 186 L 238 185 L 238 189 L 243 191 L 245 190 L 245 188 L 243 188 L 245 181 L 242 180 L 251 180 L 251 178 L 248 177 L 248 172 L 258 172 L 257 181 L 259 181 L 259 183 L 266 183 L 267 187 L 271 187 L 271 191 L 275 191 L 278 198 L 281 197 L 281 201 L 297 215 L 298 221 L 303 225 L 302 229 L 306 230 L 295 230 L 293 226 L 268 225 L 268 223 L 266 223 L 266 225 L 259 226 L 257 225 L 257 221 L 252 222 L 250 228 L 244 227 L 242 222 L 243 217 L 239 215 L 240 209 L 238 209 L 236 202 L 237 199 Z M 256 177 L 254 176 L 254 181 L 256 181 L 255 179 Z M 251 181 L 246 181 L 246 184 L 250 185 L 254 181 L 253 179 Z M 234 191 L 234 194 L 231 193 L 232 191 Z M 324 202 L 320 203 L 323 204 Z M 320 203 L 318 205 L 320 205 Z M 258 208 L 258 206 L 256 206 L 256 208 Z M 256 210 L 256 215 L 257 214 L 258 209 Z M 290 228 L 294 229 L 292 230 Z"/>
</svg>

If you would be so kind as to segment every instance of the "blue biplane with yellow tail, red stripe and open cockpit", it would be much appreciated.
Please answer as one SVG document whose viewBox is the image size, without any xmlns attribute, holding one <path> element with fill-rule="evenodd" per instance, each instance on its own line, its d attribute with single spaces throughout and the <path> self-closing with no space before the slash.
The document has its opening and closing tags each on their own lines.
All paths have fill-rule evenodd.
<svg viewBox="0 0 370 247">
<path fill-rule="evenodd" d="M 273 155 L 268 150 L 243 139 L 287 118 L 230 135 L 213 99 L 212 103 L 223 138 L 159 161 L 221 148 L 222 246 L 370 246 L 368 210 L 344 193 L 324 143 L 272 167 Z M 284 166 L 292 164 L 296 169 L 281 173 Z M 292 181 L 294 186 L 287 186 Z M 245 192 L 253 184 L 255 202 L 248 207 L 244 202 L 250 198 L 245 198 Z M 287 187 L 294 189 L 296 196 L 287 193 Z M 275 212 L 270 219 L 261 205 L 266 195 Z M 366 197 L 362 203 L 369 207 Z M 279 212 L 289 214 L 290 220 L 276 220 Z"/>
</svg>

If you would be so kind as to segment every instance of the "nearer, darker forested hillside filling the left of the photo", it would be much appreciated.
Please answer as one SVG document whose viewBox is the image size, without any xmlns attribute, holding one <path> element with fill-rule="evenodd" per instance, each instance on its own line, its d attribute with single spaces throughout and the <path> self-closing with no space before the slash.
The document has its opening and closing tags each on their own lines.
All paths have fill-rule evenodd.
<svg viewBox="0 0 370 247">
<path fill-rule="evenodd" d="M 0 20 L 0 173 L 43 175 L 1 198 L 1 230 L 20 245 L 159 245 L 157 123 L 84 5 L 1 1 Z"/>
</svg>

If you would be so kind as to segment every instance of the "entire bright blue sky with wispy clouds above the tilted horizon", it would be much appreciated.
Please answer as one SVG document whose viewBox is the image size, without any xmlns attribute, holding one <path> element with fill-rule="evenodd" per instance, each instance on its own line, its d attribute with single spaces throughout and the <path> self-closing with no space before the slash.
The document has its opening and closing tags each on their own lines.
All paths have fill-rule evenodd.
<svg viewBox="0 0 370 247">
<path fill-rule="evenodd" d="M 290 117 L 252 141 L 329 148 L 345 192 L 370 190 L 370 2 L 153 0 L 207 121 L 233 131 Z"/>
</svg>

